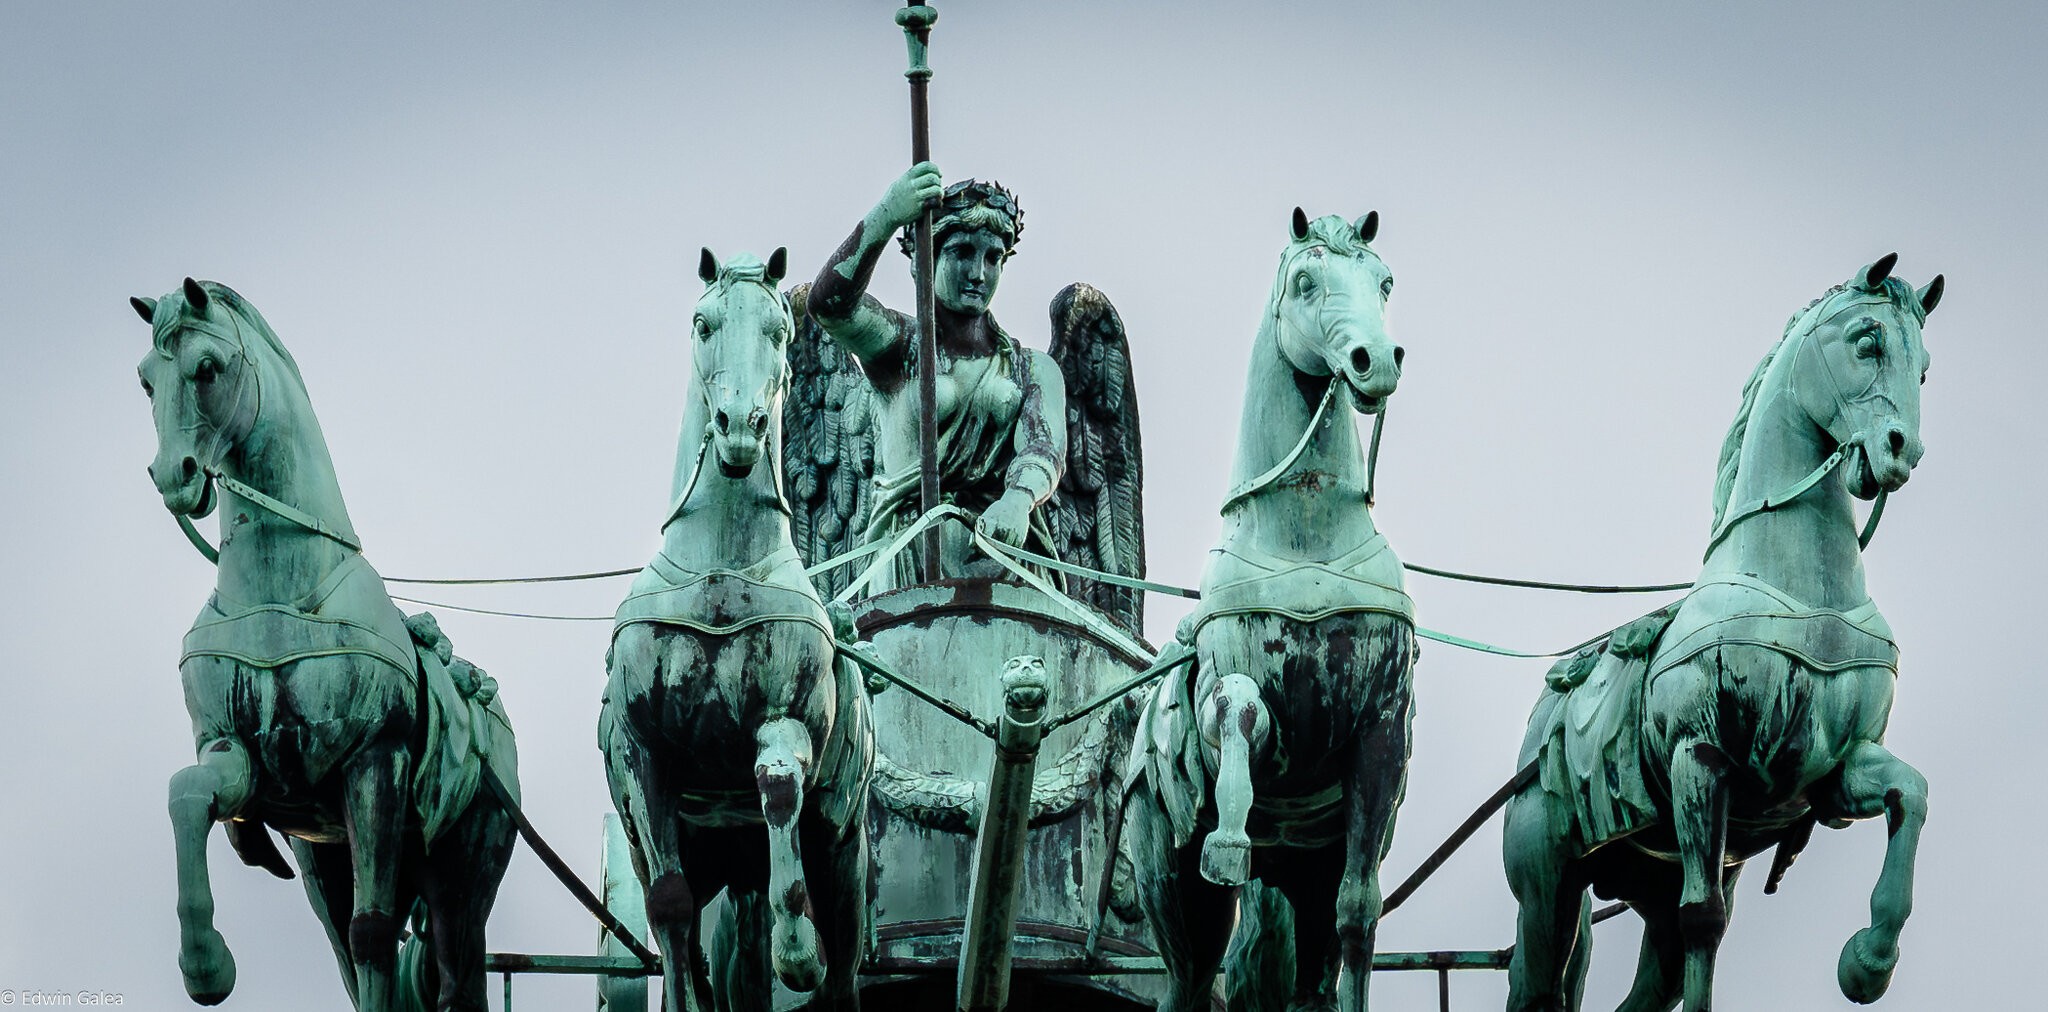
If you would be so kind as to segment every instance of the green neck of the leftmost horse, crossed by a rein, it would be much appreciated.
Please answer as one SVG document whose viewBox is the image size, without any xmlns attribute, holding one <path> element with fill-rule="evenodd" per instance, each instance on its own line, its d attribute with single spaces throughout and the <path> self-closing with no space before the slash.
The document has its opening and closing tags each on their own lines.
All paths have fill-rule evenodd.
<svg viewBox="0 0 2048 1012">
<path fill-rule="evenodd" d="M 258 412 L 248 436 L 221 455 L 217 467 L 264 496 L 317 516 L 354 537 L 334 457 L 313 416 L 305 387 L 276 361 L 256 354 Z M 217 586 L 240 602 L 297 602 L 311 594 L 352 551 L 307 531 L 227 488 L 221 496 L 221 561 Z"/>
</svg>

